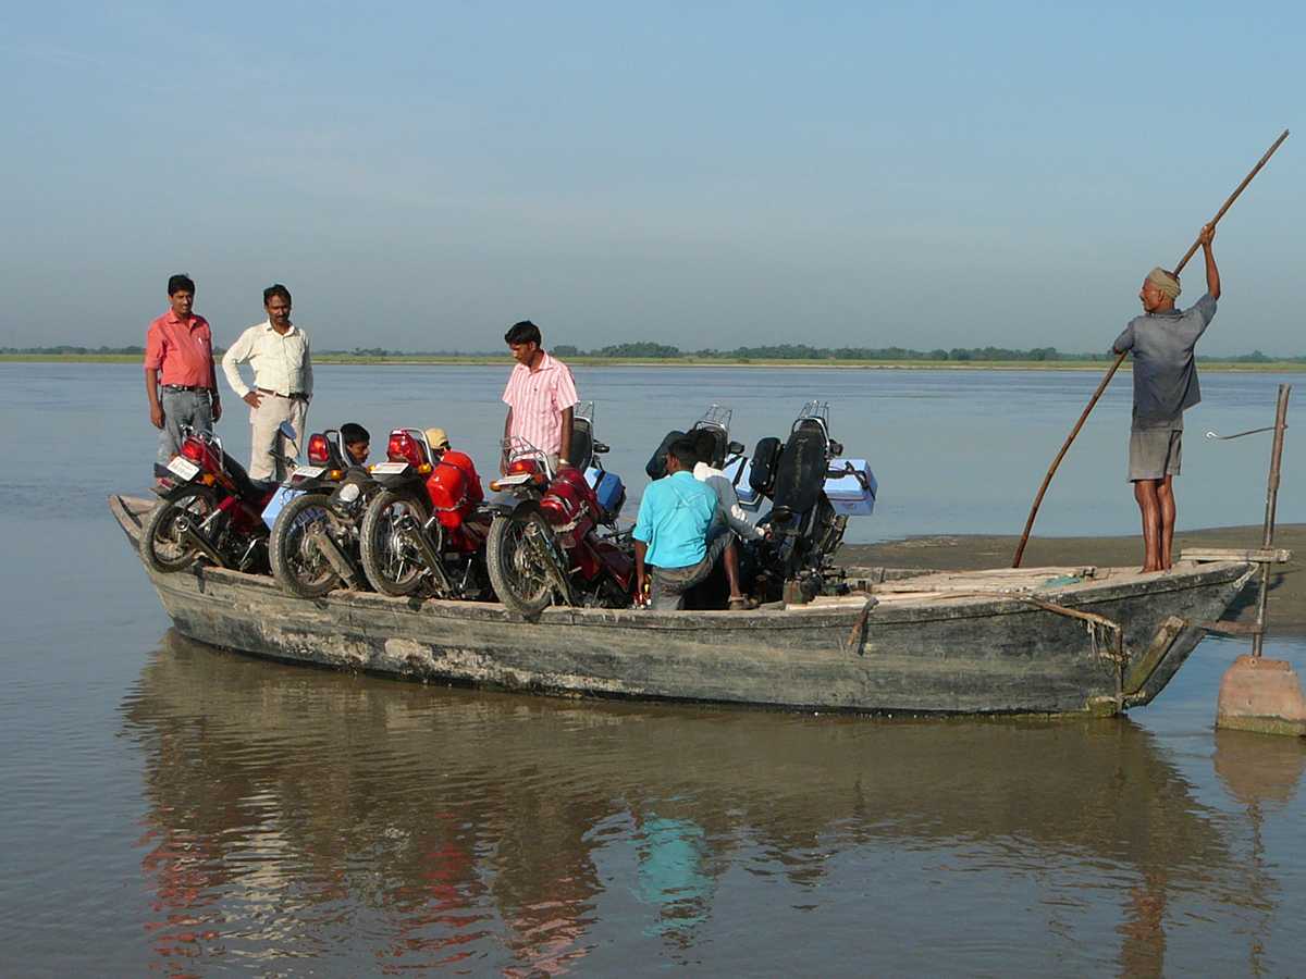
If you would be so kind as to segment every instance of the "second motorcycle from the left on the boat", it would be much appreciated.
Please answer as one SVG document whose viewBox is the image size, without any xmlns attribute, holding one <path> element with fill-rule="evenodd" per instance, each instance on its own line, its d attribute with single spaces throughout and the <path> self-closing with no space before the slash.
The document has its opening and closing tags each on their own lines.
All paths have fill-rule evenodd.
<svg viewBox="0 0 1306 979">
<path fill-rule="evenodd" d="M 312 435 L 308 465 L 295 467 L 263 513 L 277 583 L 299 598 L 320 598 L 341 583 L 366 587 L 359 523 L 377 489 L 368 470 L 347 459 L 337 429 Z"/>
</svg>

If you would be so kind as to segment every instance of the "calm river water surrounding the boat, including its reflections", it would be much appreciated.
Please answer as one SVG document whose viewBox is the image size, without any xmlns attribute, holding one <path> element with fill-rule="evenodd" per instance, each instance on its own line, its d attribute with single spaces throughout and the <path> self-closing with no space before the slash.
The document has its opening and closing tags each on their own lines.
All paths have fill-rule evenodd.
<svg viewBox="0 0 1306 979">
<path fill-rule="evenodd" d="M 441 424 L 488 471 L 504 368 L 319 371 L 311 423 Z M 579 372 L 631 483 L 712 401 L 808 397 L 871 458 L 849 538 L 1012 533 L 1096 372 Z M 285 667 L 168 630 L 104 497 L 141 373 L 0 365 L 0 949 L 12 975 L 1290 975 L 1306 745 L 1212 731 L 1243 644 L 1130 719 L 870 721 L 550 701 Z M 1208 375 L 1181 527 L 1252 523 L 1279 379 Z M 234 405 L 219 426 L 244 454 Z M 1121 379 L 1040 531 L 1128 533 Z M 1280 518 L 1306 520 L 1293 436 Z M 1269 655 L 1306 675 L 1306 638 Z"/>
</svg>

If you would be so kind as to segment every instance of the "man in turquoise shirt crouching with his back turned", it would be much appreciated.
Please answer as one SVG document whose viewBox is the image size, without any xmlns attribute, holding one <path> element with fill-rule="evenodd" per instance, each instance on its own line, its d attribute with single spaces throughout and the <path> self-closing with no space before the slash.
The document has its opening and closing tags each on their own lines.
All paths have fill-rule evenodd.
<svg viewBox="0 0 1306 979">
<path fill-rule="evenodd" d="M 674 441 L 666 454 L 666 476 L 640 500 L 633 531 L 636 595 L 648 590 L 649 607 L 660 611 L 680 608 L 684 593 L 707 578 L 727 551 L 735 559 L 735 535 L 710 533 L 717 495 L 693 478 L 697 461 L 692 441 Z M 730 607 L 743 608 L 743 599 L 731 599 Z"/>
</svg>

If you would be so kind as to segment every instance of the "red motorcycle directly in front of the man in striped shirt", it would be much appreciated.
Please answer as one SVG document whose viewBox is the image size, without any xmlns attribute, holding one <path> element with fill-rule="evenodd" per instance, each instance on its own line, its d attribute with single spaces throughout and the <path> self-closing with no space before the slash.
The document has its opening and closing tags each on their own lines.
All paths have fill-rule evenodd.
<svg viewBox="0 0 1306 979">
<path fill-rule="evenodd" d="M 503 497 L 491 504 L 486 544 L 490 581 L 511 611 L 533 617 L 555 598 L 631 604 L 635 561 L 628 533 L 616 530 L 626 488 L 598 459 L 607 450 L 594 441 L 593 403 L 573 412 L 571 466 L 555 470 L 546 453 L 512 440 L 505 474 L 490 483 Z"/>
</svg>

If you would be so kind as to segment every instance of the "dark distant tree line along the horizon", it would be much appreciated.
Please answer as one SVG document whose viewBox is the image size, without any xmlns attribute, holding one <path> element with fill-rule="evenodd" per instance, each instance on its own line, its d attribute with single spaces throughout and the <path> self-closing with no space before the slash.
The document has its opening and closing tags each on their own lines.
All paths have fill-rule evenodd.
<svg viewBox="0 0 1306 979">
<path fill-rule="evenodd" d="M 214 354 L 221 355 L 221 347 L 214 347 Z M 504 351 L 405 351 L 388 350 L 385 347 L 354 347 L 353 350 L 323 350 L 323 355 L 336 354 L 346 356 L 504 356 Z M 806 343 L 778 343 L 760 347 L 735 347 L 734 350 L 717 350 L 705 347 L 703 350 L 680 350 L 669 343 L 653 343 L 650 341 L 639 343 L 613 343 L 594 350 L 581 350 L 571 343 L 559 343 L 552 347 L 552 352 L 562 358 L 598 358 L 598 359 L 626 359 L 626 360 L 810 360 L 810 362 L 840 362 L 840 360 L 916 360 L 939 363 L 965 363 L 968 360 L 981 362 L 1057 362 L 1057 363 L 1094 363 L 1111 359 L 1111 354 L 1067 354 L 1057 347 L 1030 347 L 1029 350 L 1015 350 L 1011 347 L 952 347 L 944 350 L 910 350 L 908 347 L 812 347 Z M 60 345 L 54 347 L 0 347 L 0 355 L 40 355 L 57 356 L 64 354 L 110 354 L 110 355 L 144 355 L 145 347 L 77 347 Z M 1250 354 L 1234 354 L 1230 356 L 1198 356 L 1198 360 L 1216 360 L 1234 364 L 1268 364 L 1268 363 L 1306 363 L 1306 355 L 1298 356 L 1269 356 L 1259 350 Z"/>
</svg>

